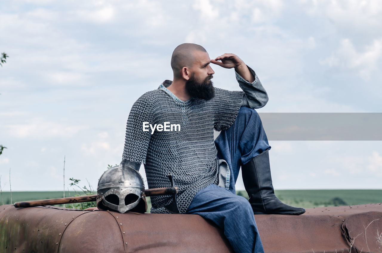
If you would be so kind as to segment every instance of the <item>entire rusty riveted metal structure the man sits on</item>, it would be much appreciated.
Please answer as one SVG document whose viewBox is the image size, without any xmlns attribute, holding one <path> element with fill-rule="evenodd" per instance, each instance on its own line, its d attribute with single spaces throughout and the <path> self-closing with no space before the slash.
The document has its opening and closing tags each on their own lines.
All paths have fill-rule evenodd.
<svg viewBox="0 0 382 253">
<path fill-rule="evenodd" d="M 376 239 L 377 230 L 382 233 L 381 204 L 255 219 L 266 253 L 382 251 Z M 222 232 L 197 215 L 0 206 L 0 252 L 33 251 L 233 252 Z"/>
</svg>

